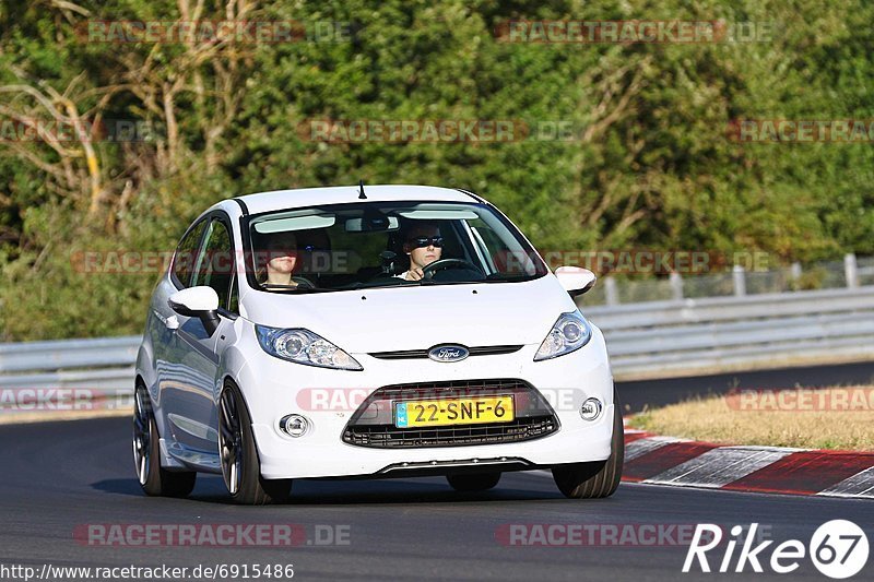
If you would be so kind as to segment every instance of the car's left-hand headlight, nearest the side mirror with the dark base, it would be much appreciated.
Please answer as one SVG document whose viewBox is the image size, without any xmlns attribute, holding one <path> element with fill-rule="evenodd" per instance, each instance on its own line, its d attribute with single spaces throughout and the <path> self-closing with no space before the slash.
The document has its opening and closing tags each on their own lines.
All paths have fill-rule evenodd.
<svg viewBox="0 0 874 582">
<path fill-rule="evenodd" d="M 283 330 L 256 324 L 255 333 L 263 351 L 281 359 L 319 368 L 364 369 L 355 358 L 334 344 L 303 328 Z"/>
</svg>

